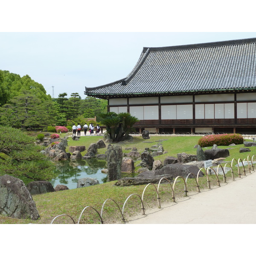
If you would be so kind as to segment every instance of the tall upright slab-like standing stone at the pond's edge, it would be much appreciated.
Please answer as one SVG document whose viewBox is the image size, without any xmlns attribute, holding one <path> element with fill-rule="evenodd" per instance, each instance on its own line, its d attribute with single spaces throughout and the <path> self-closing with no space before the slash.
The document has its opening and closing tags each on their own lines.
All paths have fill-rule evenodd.
<svg viewBox="0 0 256 256">
<path fill-rule="evenodd" d="M 121 178 L 122 169 L 122 147 L 120 145 L 108 145 L 106 151 L 108 162 L 108 181 Z"/>
</svg>

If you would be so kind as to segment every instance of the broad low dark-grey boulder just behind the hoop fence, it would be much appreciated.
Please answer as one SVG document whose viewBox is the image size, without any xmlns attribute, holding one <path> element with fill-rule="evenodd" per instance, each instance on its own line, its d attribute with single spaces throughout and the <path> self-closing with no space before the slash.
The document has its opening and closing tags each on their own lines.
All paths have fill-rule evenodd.
<svg viewBox="0 0 256 256">
<path fill-rule="evenodd" d="M 191 165 L 182 165 L 179 163 L 175 164 L 168 164 L 166 166 L 163 166 L 162 169 L 156 170 L 155 175 L 172 175 L 173 178 L 177 176 L 182 176 L 184 178 L 189 175 L 189 173 L 192 172 L 195 177 L 197 177 L 199 168 L 197 166 L 191 166 Z M 199 177 L 203 177 L 204 173 L 199 172 Z M 193 177 L 193 175 L 189 176 L 190 178 Z"/>
</svg>

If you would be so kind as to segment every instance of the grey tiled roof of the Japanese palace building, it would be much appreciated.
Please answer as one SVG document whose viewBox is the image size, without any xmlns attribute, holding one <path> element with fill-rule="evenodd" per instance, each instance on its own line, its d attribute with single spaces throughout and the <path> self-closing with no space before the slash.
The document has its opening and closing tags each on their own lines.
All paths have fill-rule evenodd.
<svg viewBox="0 0 256 256">
<path fill-rule="evenodd" d="M 105 98 L 241 89 L 256 89 L 256 38 L 144 47 L 126 78 L 84 93 Z"/>
</svg>

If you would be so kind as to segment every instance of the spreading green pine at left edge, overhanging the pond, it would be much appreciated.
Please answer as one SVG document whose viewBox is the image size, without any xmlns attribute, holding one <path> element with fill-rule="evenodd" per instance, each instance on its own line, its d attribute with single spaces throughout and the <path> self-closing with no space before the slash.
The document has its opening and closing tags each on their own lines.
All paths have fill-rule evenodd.
<svg viewBox="0 0 256 256">
<path fill-rule="evenodd" d="M 35 139 L 14 128 L 0 126 L 0 173 L 32 180 L 50 180 L 55 177 L 53 163 L 41 154 Z"/>
</svg>

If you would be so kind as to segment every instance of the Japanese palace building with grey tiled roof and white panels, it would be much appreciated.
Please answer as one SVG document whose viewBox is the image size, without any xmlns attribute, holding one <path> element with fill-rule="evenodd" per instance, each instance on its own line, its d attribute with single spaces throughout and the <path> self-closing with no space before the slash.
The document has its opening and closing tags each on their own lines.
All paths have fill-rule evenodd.
<svg viewBox="0 0 256 256">
<path fill-rule="evenodd" d="M 137 131 L 256 133 L 256 38 L 144 47 L 131 73 L 87 96 L 140 119 Z"/>
</svg>

